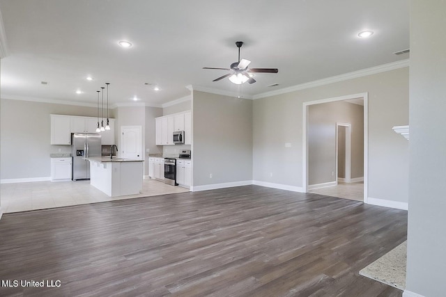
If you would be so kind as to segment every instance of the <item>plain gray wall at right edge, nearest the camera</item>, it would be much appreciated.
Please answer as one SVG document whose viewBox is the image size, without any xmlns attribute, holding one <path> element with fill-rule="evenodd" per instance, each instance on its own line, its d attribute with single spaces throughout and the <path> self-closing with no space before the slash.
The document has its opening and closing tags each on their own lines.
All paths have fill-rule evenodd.
<svg viewBox="0 0 446 297">
<path fill-rule="evenodd" d="M 445 296 L 446 1 L 410 1 L 408 291 Z"/>
</svg>

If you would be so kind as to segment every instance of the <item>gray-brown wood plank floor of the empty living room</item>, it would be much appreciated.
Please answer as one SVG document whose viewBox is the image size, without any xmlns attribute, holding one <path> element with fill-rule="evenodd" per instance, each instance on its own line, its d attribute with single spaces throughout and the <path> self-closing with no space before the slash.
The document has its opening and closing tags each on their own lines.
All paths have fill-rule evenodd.
<svg viewBox="0 0 446 297">
<path fill-rule="evenodd" d="M 407 211 L 261 186 L 4 214 L 0 296 L 401 296 L 358 274 Z"/>
</svg>

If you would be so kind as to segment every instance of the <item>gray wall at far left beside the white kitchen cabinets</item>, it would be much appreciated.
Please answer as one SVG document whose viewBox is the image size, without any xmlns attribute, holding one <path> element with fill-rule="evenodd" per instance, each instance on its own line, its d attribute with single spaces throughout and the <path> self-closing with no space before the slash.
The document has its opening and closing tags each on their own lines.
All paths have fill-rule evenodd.
<svg viewBox="0 0 446 297">
<path fill-rule="evenodd" d="M 50 145 L 50 114 L 96 116 L 93 107 L 1 99 L 1 179 L 49 177 L 49 154 L 70 152 Z"/>
</svg>

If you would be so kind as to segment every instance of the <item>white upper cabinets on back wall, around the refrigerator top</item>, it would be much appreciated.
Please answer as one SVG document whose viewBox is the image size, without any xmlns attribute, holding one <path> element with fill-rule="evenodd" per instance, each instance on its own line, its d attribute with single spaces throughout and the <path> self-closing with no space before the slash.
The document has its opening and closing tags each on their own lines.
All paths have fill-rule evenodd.
<svg viewBox="0 0 446 297">
<path fill-rule="evenodd" d="M 106 123 L 105 121 L 104 124 Z M 110 130 L 96 132 L 98 127 L 97 118 L 76 115 L 51 115 L 51 144 L 70 145 L 72 133 L 98 133 L 101 135 L 102 145 L 114 145 L 114 121 L 114 119 L 109 119 Z"/>
</svg>

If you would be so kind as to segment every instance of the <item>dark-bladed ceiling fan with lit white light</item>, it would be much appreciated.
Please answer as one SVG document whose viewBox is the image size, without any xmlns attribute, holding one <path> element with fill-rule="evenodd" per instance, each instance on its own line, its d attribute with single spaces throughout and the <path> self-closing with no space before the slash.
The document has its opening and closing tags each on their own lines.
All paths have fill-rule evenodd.
<svg viewBox="0 0 446 297">
<path fill-rule="evenodd" d="M 250 73 L 277 73 L 279 70 L 277 68 L 248 68 L 249 63 L 251 61 L 247 59 L 240 60 L 240 47 L 242 47 L 243 41 L 236 42 L 236 46 L 238 47 L 238 61 L 231 64 L 230 68 L 214 68 L 214 67 L 203 67 L 203 69 L 216 69 L 216 70 L 229 70 L 228 74 L 224 74 L 222 77 L 214 79 L 213 81 L 220 81 L 221 79 L 225 79 L 229 77 L 229 80 L 232 83 L 236 83 L 240 85 L 241 83 L 255 83 L 256 80 L 252 78 Z"/>
</svg>

